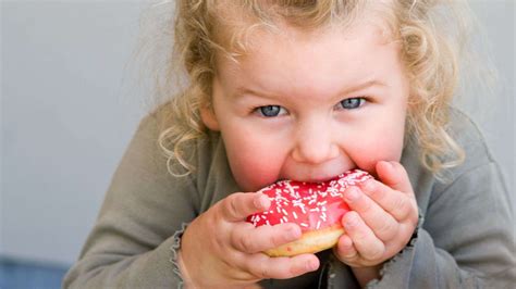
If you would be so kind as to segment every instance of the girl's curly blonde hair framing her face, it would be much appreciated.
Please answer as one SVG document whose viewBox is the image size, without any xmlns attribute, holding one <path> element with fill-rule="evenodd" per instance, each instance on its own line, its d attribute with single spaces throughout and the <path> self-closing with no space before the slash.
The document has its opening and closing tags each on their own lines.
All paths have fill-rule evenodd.
<svg viewBox="0 0 516 289">
<path fill-rule="evenodd" d="M 162 22 L 155 29 L 158 34 L 147 34 L 145 38 L 147 43 L 158 40 L 161 43 L 150 53 L 161 59 L 155 58 L 148 71 L 155 76 L 155 93 L 165 102 L 167 117 L 159 143 L 171 174 L 195 169 L 193 156 L 187 152 L 193 141 L 206 136 L 200 109 L 210 105 L 217 53 L 237 61 L 246 52 L 248 33 L 257 27 L 274 27 L 278 20 L 294 27 L 317 29 L 335 23 L 349 24 L 369 7 L 382 12 L 393 40 L 402 43 L 402 60 L 410 86 L 406 139 L 417 141 L 421 164 L 438 177 L 444 168 L 462 163 L 464 151 L 449 134 L 447 125 L 459 79 L 459 58 L 467 47 L 471 15 L 467 3 L 458 0 L 177 0 L 175 5 L 161 1 L 151 7 L 161 15 L 151 13 L 147 20 L 155 24 L 157 18 Z M 230 23 L 229 11 L 237 11 L 232 15 L 242 17 L 241 22 Z M 224 29 L 224 25 L 231 29 Z M 222 36 L 221 30 L 231 34 Z"/>
</svg>

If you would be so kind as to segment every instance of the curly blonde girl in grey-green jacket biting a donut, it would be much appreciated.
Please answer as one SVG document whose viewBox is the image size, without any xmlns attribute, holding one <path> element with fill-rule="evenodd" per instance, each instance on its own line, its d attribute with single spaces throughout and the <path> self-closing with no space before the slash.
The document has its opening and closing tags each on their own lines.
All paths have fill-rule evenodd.
<svg viewBox="0 0 516 289">
<path fill-rule="evenodd" d="M 514 285 L 507 192 L 451 108 L 459 50 L 435 22 L 459 14 L 430 0 L 176 2 L 187 87 L 140 124 L 64 287 Z M 352 168 L 376 180 L 344 191 L 333 250 L 261 253 L 300 228 L 246 223 L 270 205 L 256 191 Z"/>
</svg>

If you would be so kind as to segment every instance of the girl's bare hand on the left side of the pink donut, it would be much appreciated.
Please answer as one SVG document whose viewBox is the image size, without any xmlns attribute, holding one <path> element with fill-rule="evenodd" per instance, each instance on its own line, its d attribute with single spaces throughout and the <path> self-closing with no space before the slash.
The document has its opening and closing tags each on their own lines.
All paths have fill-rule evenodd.
<svg viewBox="0 0 516 289">
<path fill-rule="evenodd" d="M 233 193 L 199 215 L 185 230 L 180 267 L 192 287 L 246 287 L 265 278 L 293 278 L 319 267 L 314 254 L 269 257 L 263 250 L 296 240 L 299 226 L 255 228 L 245 218 L 268 210 L 261 193 Z"/>
</svg>

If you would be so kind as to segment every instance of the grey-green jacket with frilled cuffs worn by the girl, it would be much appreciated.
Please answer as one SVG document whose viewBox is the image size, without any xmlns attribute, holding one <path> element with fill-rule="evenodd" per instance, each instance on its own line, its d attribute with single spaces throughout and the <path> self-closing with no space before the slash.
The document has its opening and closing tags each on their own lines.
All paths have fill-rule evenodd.
<svg viewBox="0 0 516 289">
<path fill-rule="evenodd" d="M 157 147 L 157 115 L 146 117 L 123 156 L 69 288 L 175 288 L 175 264 L 186 224 L 228 194 L 239 191 L 219 134 L 198 141 L 197 171 L 172 177 Z M 420 211 L 410 243 L 381 271 L 371 288 L 513 288 L 516 285 L 514 219 L 497 164 L 477 127 L 454 111 L 452 133 L 466 162 L 437 180 L 407 141 L 402 164 Z M 317 272 L 266 288 L 358 288 L 351 269 L 327 250 Z"/>
</svg>

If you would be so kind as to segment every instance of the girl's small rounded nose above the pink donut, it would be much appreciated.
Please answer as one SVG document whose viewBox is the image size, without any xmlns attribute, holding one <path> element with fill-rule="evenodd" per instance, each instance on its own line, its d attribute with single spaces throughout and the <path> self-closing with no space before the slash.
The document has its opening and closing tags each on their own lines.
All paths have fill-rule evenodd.
<svg viewBox="0 0 516 289">
<path fill-rule="evenodd" d="M 336 135 L 324 122 L 311 122 L 298 127 L 294 161 L 308 164 L 321 164 L 339 156 Z"/>
</svg>

